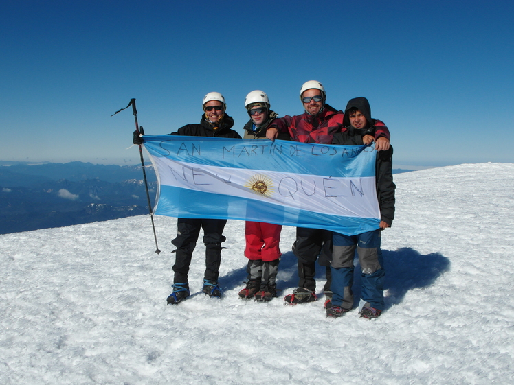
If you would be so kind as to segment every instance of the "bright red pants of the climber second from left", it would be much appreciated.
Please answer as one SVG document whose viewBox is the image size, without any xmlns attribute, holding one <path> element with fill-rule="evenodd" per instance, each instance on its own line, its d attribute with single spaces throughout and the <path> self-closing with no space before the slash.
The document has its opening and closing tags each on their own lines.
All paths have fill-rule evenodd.
<svg viewBox="0 0 514 385">
<path fill-rule="evenodd" d="M 271 262 L 280 258 L 281 224 L 246 222 L 245 257 L 252 260 Z"/>
</svg>

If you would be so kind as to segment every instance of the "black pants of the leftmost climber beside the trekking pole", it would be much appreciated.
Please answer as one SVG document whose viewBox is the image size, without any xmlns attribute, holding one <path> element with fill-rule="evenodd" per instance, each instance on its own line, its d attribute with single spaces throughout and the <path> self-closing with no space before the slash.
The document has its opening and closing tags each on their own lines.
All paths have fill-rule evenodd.
<svg viewBox="0 0 514 385">
<path fill-rule="evenodd" d="M 205 244 L 205 275 L 208 281 L 218 281 L 221 264 L 221 242 L 225 242 L 223 229 L 227 220 L 179 218 L 177 220 L 177 237 L 171 243 L 175 250 L 175 265 L 173 271 L 174 283 L 188 282 L 189 266 L 192 253 L 197 246 L 200 229 L 203 229 L 203 244 Z"/>
</svg>

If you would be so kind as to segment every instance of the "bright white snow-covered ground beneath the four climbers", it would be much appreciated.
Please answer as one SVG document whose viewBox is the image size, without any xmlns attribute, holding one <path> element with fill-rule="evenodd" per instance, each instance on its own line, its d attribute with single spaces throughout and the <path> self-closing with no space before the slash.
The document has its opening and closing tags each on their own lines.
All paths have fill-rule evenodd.
<svg viewBox="0 0 514 385">
<path fill-rule="evenodd" d="M 514 164 L 394 179 L 377 320 L 326 318 L 322 268 L 315 303 L 238 299 L 243 222 L 225 230 L 223 298 L 200 293 L 199 242 L 193 295 L 173 307 L 175 218 L 155 217 L 159 255 L 148 215 L 0 235 L 0 383 L 513 384 Z M 294 234 L 282 231 L 282 296 L 298 283 Z"/>
</svg>

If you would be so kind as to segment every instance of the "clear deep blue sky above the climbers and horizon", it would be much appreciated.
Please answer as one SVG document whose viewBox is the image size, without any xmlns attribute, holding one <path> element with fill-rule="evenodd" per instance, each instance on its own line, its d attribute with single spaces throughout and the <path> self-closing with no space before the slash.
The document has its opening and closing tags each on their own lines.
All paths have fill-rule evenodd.
<svg viewBox="0 0 514 385">
<path fill-rule="evenodd" d="M 358 5 L 359 8 L 355 8 Z M 394 167 L 514 162 L 512 1 L 0 2 L 2 161 L 135 164 L 139 124 L 197 123 L 219 91 L 242 133 L 245 95 L 303 112 L 319 80 L 370 100 Z"/>
</svg>

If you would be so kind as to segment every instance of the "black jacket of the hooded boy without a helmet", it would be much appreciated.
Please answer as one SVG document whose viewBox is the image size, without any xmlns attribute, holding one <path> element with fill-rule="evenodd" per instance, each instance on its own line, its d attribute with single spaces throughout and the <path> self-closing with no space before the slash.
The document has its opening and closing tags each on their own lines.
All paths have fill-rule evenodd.
<svg viewBox="0 0 514 385">
<path fill-rule="evenodd" d="M 362 110 L 361 110 L 362 111 Z M 366 117 L 367 119 L 367 117 Z M 334 134 L 332 144 L 359 145 L 362 144 L 364 132 L 374 135 L 374 126 L 357 130 L 350 126 L 348 132 L 337 132 Z M 392 181 L 392 146 L 387 151 L 377 152 L 375 163 L 375 181 L 377 183 L 377 198 L 379 199 L 380 220 L 392 225 L 394 220 L 394 190 L 396 185 Z"/>
</svg>

